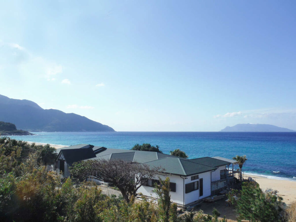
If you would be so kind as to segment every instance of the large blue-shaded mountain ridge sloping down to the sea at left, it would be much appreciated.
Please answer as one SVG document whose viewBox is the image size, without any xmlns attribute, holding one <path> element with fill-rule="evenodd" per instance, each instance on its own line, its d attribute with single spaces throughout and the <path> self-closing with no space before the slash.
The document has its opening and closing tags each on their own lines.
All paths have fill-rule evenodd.
<svg viewBox="0 0 296 222">
<path fill-rule="evenodd" d="M 0 120 L 14 123 L 17 128 L 31 132 L 113 132 L 113 128 L 75 113 L 60 110 L 44 110 L 26 99 L 10 99 L 0 95 Z"/>
</svg>

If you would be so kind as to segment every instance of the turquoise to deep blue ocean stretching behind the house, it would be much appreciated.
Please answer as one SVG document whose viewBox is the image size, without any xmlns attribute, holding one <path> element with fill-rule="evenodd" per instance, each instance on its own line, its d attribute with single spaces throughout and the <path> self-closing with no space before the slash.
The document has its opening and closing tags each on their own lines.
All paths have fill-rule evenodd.
<svg viewBox="0 0 296 222">
<path fill-rule="evenodd" d="M 136 143 L 158 145 L 163 153 L 181 149 L 189 159 L 246 155 L 245 173 L 296 181 L 296 132 L 33 132 L 13 139 L 40 143 L 92 144 L 131 149 Z M 235 169 L 238 165 L 234 166 Z"/>
</svg>

